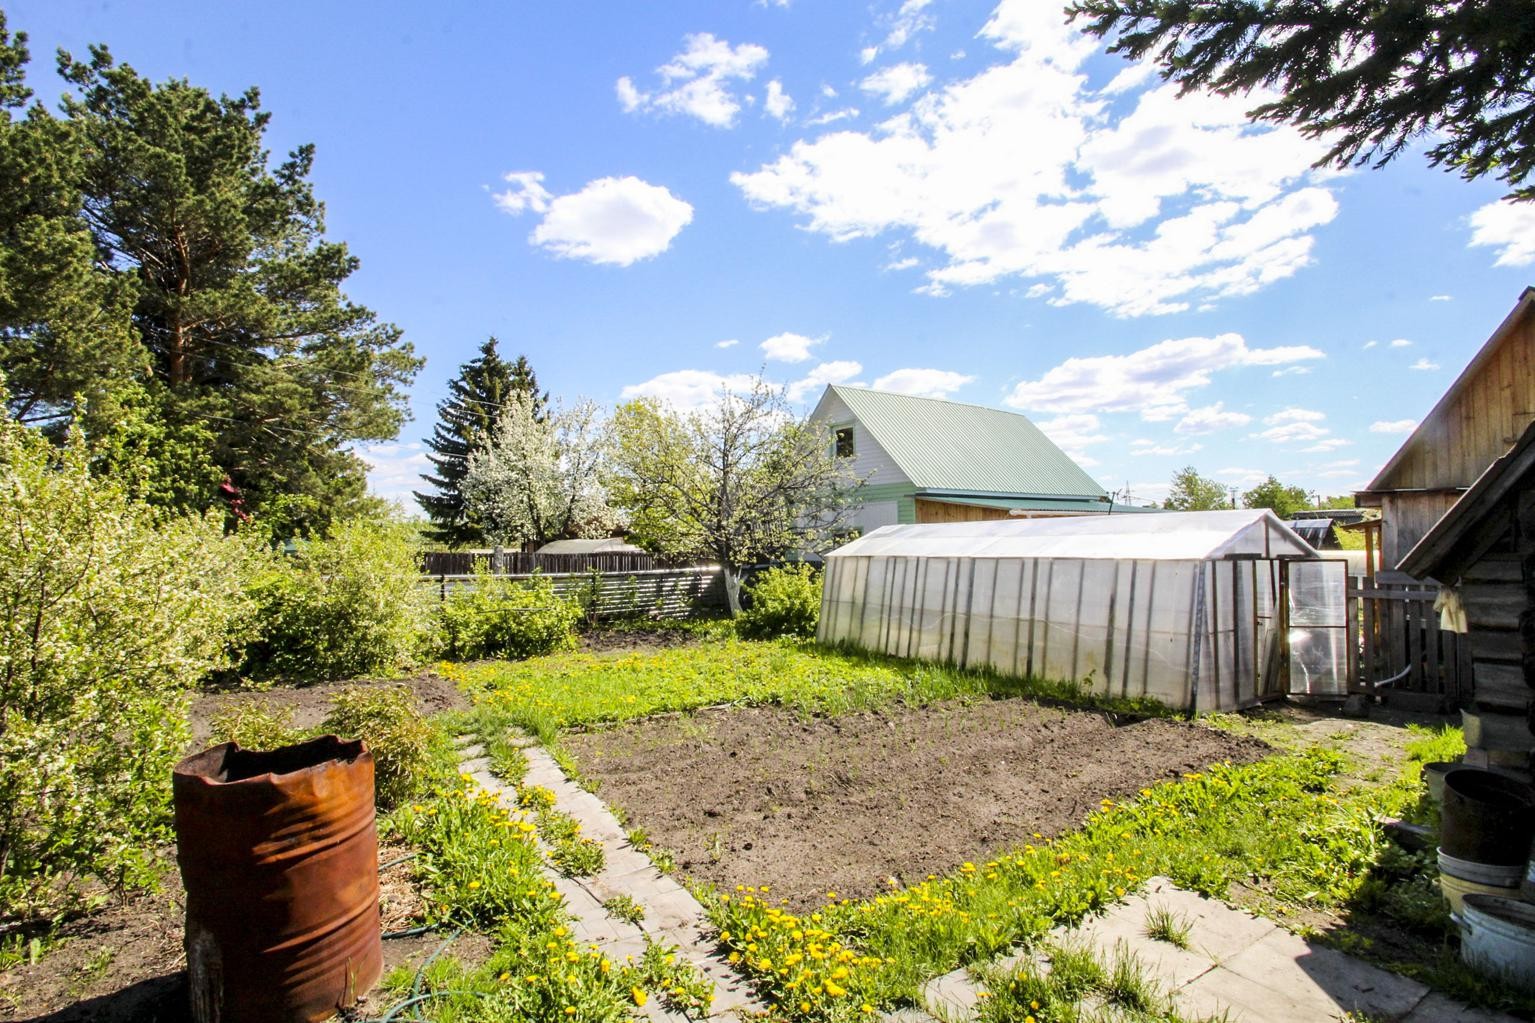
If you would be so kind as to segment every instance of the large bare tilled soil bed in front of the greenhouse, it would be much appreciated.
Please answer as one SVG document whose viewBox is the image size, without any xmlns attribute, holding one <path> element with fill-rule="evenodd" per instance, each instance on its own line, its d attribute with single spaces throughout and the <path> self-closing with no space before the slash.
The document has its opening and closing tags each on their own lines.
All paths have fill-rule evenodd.
<svg viewBox="0 0 1535 1023">
<path fill-rule="evenodd" d="M 1200 725 L 1116 727 L 1012 699 L 817 719 L 720 708 L 562 745 L 683 874 L 766 883 L 798 908 L 827 889 L 857 899 L 887 877 L 918 882 L 1073 828 L 1101 799 L 1269 751 Z"/>
</svg>

